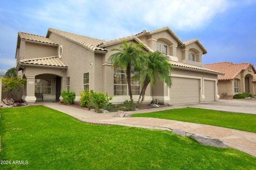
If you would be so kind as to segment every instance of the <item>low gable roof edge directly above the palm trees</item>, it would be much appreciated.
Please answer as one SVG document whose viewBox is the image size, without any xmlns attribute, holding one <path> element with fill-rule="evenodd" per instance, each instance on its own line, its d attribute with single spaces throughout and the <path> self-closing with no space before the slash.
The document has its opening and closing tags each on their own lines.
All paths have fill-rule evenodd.
<svg viewBox="0 0 256 170">
<path fill-rule="evenodd" d="M 137 41 L 137 43 L 141 43 L 144 45 L 144 47 L 149 51 L 149 52 L 153 52 L 153 50 L 151 48 L 149 48 L 145 43 L 143 43 L 138 37 L 136 36 L 127 36 L 127 37 L 123 37 L 123 38 L 118 38 L 118 39 L 114 39 L 114 40 L 110 40 L 110 41 L 105 41 L 101 44 L 99 44 L 99 47 L 107 47 L 107 46 L 111 46 L 111 45 L 115 45 L 118 43 L 122 43 L 123 41 L 129 41 L 129 40 L 135 40 Z"/>
</svg>

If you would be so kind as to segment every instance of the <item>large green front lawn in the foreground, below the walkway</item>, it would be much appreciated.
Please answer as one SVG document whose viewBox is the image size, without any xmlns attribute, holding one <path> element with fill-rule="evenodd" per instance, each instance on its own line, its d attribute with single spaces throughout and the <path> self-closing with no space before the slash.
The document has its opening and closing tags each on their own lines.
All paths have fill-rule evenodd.
<svg viewBox="0 0 256 170">
<path fill-rule="evenodd" d="M 0 109 L 0 169 L 256 169 L 256 158 L 169 131 L 92 125 L 43 106 Z"/>
</svg>

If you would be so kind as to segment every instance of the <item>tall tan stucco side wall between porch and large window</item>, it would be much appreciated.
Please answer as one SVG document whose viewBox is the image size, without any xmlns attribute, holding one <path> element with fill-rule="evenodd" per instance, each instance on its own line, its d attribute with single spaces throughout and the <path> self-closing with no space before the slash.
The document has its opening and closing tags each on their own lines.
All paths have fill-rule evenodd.
<svg viewBox="0 0 256 170">
<path fill-rule="evenodd" d="M 72 41 L 54 33 L 50 37 L 55 43 L 62 45 L 61 61 L 68 66 L 67 77 L 70 77 L 70 91 L 79 96 L 83 91 L 83 74 L 89 73 L 89 90 L 94 89 L 94 53 Z"/>
</svg>

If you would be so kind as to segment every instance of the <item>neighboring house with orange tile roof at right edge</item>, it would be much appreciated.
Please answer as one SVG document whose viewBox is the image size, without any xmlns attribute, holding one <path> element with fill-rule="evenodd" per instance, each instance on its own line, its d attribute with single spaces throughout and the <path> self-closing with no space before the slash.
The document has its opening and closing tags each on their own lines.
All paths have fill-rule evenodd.
<svg viewBox="0 0 256 170">
<path fill-rule="evenodd" d="M 243 92 L 256 95 L 256 70 L 252 64 L 222 62 L 205 64 L 204 67 L 225 73 L 218 75 L 219 96 L 233 97 Z"/>
</svg>

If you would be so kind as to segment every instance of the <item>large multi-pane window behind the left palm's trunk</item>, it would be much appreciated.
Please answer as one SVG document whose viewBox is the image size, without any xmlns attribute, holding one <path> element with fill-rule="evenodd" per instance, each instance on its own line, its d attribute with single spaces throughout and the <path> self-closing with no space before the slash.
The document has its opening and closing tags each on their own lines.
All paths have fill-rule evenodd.
<svg viewBox="0 0 256 170">
<path fill-rule="evenodd" d="M 140 95 L 140 73 L 133 72 L 131 74 L 132 95 Z M 126 81 L 125 69 L 114 69 L 114 96 L 128 95 L 128 85 Z"/>
</svg>

